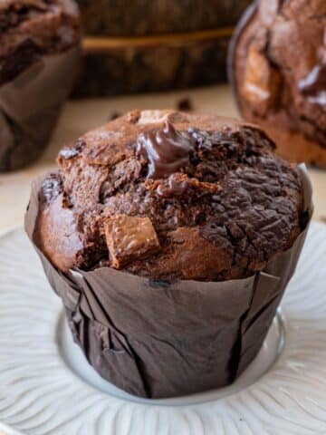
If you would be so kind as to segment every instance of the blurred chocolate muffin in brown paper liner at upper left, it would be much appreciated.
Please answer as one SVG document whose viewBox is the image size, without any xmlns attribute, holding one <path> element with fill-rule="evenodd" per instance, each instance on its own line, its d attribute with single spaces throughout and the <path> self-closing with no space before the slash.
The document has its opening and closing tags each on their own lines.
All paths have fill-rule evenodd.
<svg viewBox="0 0 326 435">
<path fill-rule="evenodd" d="M 44 150 L 72 88 L 80 37 L 73 0 L 1 2 L 0 171 Z"/>
</svg>

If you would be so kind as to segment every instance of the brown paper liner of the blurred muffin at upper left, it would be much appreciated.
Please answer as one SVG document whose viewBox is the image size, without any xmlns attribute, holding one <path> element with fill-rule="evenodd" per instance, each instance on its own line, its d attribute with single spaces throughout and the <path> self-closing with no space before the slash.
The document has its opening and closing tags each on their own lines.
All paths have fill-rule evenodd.
<svg viewBox="0 0 326 435">
<path fill-rule="evenodd" d="M 43 55 L 0 86 L 0 172 L 19 169 L 45 150 L 72 90 L 80 47 Z"/>
</svg>

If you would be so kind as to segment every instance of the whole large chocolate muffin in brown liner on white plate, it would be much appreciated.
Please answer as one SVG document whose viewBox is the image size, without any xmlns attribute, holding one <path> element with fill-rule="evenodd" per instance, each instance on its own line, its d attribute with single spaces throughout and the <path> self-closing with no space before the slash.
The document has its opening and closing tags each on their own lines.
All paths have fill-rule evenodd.
<svg viewBox="0 0 326 435">
<path fill-rule="evenodd" d="M 225 386 L 259 352 L 312 215 L 254 125 L 132 111 L 34 183 L 25 228 L 76 343 L 124 391 Z"/>
</svg>

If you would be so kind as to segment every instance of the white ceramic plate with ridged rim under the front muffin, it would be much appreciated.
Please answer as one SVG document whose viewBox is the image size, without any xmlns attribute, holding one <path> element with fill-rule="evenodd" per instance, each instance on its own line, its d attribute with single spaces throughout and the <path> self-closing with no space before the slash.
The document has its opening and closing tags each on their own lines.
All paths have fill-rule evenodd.
<svg viewBox="0 0 326 435">
<path fill-rule="evenodd" d="M 229 388 L 149 401 L 103 381 L 72 343 L 23 229 L 0 239 L 0 433 L 326 434 L 326 227 L 313 223 L 264 346 Z"/>
</svg>

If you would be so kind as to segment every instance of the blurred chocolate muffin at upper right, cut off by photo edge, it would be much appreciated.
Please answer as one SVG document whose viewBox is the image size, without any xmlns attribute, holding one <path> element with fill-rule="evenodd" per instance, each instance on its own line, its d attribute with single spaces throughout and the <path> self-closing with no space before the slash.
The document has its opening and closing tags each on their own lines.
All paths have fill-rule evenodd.
<svg viewBox="0 0 326 435">
<path fill-rule="evenodd" d="M 254 2 L 237 26 L 229 78 L 245 120 L 292 161 L 326 167 L 326 3 Z"/>
</svg>

